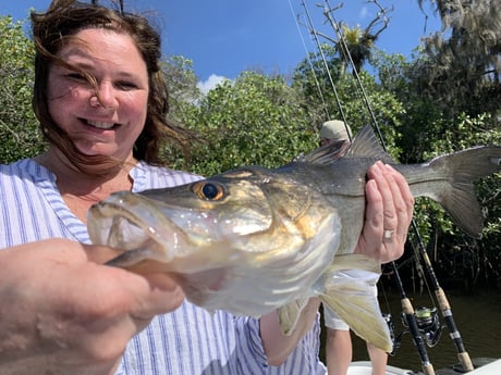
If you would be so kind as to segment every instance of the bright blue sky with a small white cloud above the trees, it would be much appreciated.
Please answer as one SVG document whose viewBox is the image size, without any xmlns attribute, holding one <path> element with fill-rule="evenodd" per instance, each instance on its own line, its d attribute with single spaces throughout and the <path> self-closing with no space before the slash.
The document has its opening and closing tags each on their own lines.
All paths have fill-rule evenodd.
<svg viewBox="0 0 501 375">
<path fill-rule="evenodd" d="M 316 51 L 305 26 L 307 14 L 318 30 L 332 36 L 325 24 L 326 0 L 125 0 L 125 9 L 147 12 L 162 34 L 166 55 L 192 60 L 199 87 L 206 91 L 223 77 L 233 79 L 245 70 L 288 74 Z M 306 10 L 303 5 L 306 4 Z M 44 11 L 50 0 L 0 0 L 0 14 L 27 18 L 30 8 Z M 389 27 L 377 47 L 388 53 L 411 57 L 420 38 L 440 27 L 432 9 L 417 0 L 379 0 L 389 13 Z M 365 28 L 378 9 L 366 0 L 328 0 L 342 7 L 335 20 Z M 300 20 L 300 22 L 297 22 Z M 322 40 L 325 41 L 325 40 Z"/>
</svg>

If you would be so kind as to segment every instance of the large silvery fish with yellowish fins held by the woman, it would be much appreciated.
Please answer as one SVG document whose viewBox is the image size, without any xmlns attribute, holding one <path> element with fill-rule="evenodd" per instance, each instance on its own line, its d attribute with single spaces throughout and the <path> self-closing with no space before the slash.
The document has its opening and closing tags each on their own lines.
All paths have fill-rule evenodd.
<svg viewBox="0 0 501 375">
<path fill-rule="evenodd" d="M 381 265 L 355 254 L 365 215 L 366 173 L 381 160 L 414 197 L 439 202 L 469 236 L 484 215 L 473 182 L 500 171 L 501 147 L 477 146 L 423 164 L 395 163 L 370 126 L 278 168 L 243 166 L 182 186 L 120 191 L 88 211 L 93 243 L 120 249 L 107 264 L 175 275 L 207 311 L 262 316 L 277 310 L 290 335 L 311 297 L 351 329 L 392 351 L 374 285 Z M 374 280 L 346 278 L 364 270 Z"/>
</svg>

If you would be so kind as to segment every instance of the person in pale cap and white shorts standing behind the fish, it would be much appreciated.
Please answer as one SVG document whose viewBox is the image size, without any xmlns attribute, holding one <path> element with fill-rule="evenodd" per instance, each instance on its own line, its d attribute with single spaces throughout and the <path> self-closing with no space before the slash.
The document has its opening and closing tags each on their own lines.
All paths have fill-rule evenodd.
<svg viewBox="0 0 501 375">
<path fill-rule="evenodd" d="M 319 135 L 320 146 L 343 139 L 351 141 L 352 129 L 342 121 L 331 120 L 322 124 Z M 343 273 L 345 277 L 367 279 L 369 283 L 372 283 L 374 292 L 377 296 L 376 283 L 379 275 L 359 270 L 350 270 Z M 353 358 L 350 326 L 326 305 L 323 305 L 323 320 L 327 327 L 326 362 L 328 374 L 346 375 Z M 388 354 L 368 342 L 367 351 L 372 364 L 372 375 L 384 375 Z"/>
</svg>

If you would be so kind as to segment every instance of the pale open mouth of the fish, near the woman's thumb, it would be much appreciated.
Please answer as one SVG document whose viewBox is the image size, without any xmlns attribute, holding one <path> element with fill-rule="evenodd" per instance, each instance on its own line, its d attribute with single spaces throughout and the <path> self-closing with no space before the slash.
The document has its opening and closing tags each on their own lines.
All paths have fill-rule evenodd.
<svg viewBox="0 0 501 375">
<path fill-rule="evenodd" d="M 159 203 L 127 191 L 111 195 L 88 211 L 90 241 L 124 251 L 148 249 L 151 258 L 171 260 L 187 238 L 170 220 L 174 213 L 159 210 Z"/>
</svg>

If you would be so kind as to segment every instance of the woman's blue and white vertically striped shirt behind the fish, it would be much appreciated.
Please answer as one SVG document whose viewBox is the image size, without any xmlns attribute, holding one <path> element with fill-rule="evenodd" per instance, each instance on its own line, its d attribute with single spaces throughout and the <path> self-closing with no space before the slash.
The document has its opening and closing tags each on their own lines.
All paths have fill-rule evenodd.
<svg viewBox="0 0 501 375">
<path fill-rule="evenodd" d="M 195 175 L 139 163 L 133 191 L 181 185 Z M 89 243 L 87 227 L 66 207 L 56 176 L 33 160 L 0 165 L 0 249 L 53 237 Z M 223 311 L 209 314 L 184 302 L 159 315 L 129 342 L 117 374 L 318 375 L 319 324 L 281 366 L 270 366 L 257 320 Z"/>
</svg>

